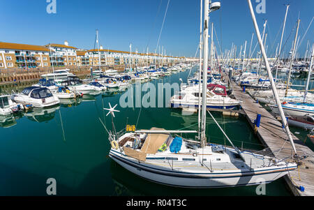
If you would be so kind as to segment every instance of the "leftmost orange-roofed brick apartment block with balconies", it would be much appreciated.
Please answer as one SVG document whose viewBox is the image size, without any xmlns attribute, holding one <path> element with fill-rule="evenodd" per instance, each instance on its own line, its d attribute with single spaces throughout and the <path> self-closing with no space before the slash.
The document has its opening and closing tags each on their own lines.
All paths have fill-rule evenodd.
<svg viewBox="0 0 314 210">
<path fill-rule="evenodd" d="M 50 66 L 49 50 L 39 45 L 0 42 L 0 68 Z"/>
</svg>

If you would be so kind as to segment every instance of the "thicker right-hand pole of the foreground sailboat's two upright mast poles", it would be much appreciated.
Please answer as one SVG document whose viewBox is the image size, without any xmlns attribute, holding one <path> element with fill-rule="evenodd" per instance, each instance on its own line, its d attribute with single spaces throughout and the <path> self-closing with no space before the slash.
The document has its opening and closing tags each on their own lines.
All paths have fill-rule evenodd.
<svg viewBox="0 0 314 210">
<path fill-rule="evenodd" d="M 206 146 L 206 111 L 207 111 L 207 68 L 208 68 L 208 27 L 209 27 L 209 0 L 204 0 L 204 39 L 203 39 L 203 82 L 202 82 L 202 147 Z"/>
</svg>

